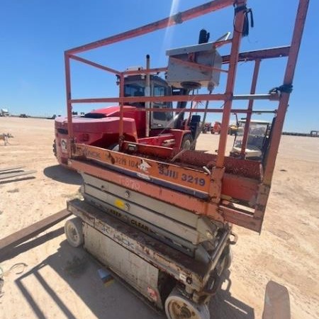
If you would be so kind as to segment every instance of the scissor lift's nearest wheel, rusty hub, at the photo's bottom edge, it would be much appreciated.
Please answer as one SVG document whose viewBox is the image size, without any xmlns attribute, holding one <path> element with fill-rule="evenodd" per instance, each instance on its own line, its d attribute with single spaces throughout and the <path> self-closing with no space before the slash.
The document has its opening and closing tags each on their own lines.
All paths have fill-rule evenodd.
<svg viewBox="0 0 319 319">
<path fill-rule="evenodd" d="M 173 289 L 165 301 L 165 313 L 169 319 L 209 319 L 206 304 L 198 305 L 183 296 L 177 289 Z"/>
</svg>

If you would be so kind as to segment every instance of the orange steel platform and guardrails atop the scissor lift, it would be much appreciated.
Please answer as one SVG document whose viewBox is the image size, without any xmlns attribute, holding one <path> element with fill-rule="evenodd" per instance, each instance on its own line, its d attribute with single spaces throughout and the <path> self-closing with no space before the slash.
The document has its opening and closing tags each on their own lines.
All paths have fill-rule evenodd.
<svg viewBox="0 0 319 319">
<path fill-rule="evenodd" d="M 69 164 L 81 172 L 101 177 L 128 189 L 140 191 L 152 197 L 159 198 L 167 203 L 186 208 L 194 213 L 204 214 L 221 223 L 235 223 L 245 228 L 260 232 L 262 220 L 272 183 L 272 175 L 279 148 L 284 117 L 288 106 L 290 93 L 280 91 L 269 94 L 255 94 L 260 62 L 263 59 L 275 57 L 288 57 L 283 84 L 290 86 L 293 82 L 293 74 L 296 67 L 298 50 L 301 44 L 303 26 L 306 20 L 309 0 L 300 0 L 296 15 L 296 23 L 293 30 L 291 45 L 275 47 L 252 52 L 240 52 L 242 26 L 245 19 L 246 0 L 215 0 L 193 9 L 177 13 L 174 16 L 164 18 L 155 23 L 150 23 L 140 28 L 135 28 L 109 38 L 98 40 L 87 45 L 75 47 L 65 52 L 65 74 L 67 91 L 67 116 L 68 116 L 68 152 Z M 82 57 L 78 53 L 92 50 L 97 47 L 111 45 L 119 41 L 144 35 L 161 28 L 174 26 L 178 23 L 196 18 L 206 13 L 211 13 L 227 6 L 235 6 L 235 20 L 233 26 L 233 38 L 214 43 L 216 47 L 230 44 L 230 55 L 223 56 L 223 64 L 228 65 L 227 82 L 223 94 L 197 94 L 192 96 L 138 96 L 124 97 L 124 77 L 129 74 L 138 74 L 136 71 L 121 72 L 110 67 L 99 65 Z M 103 69 L 106 72 L 116 74 L 120 79 L 119 97 L 99 99 L 72 99 L 70 60 L 77 60 L 86 65 Z M 250 94 L 234 95 L 235 76 L 237 64 L 240 61 L 254 61 L 254 73 Z M 165 72 L 167 67 L 156 69 L 143 69 L 142 73 Z M 246 113 L 247 121 L 243 137 L 242 155 L 245 155 L 247 135 L 251 115 L 254 112 L 255 99 L 268 99 L 278 101 L 276 121 L 272 128 L 272 140 L 269 144 L 267 158 L 264 163 L 253 162 L 246 159 L 233 159 L 225 156 L 225 148 L 228 137 L 228 125 L 232 112 Z M 249 101 L 247 108 L 232 110 L 233 100 Z M 189 109 L 187 112 L 222 112 L 220 140 L 217 155 L 208 155 L 196 151 L 186 151 L 181 157 L 167 147 L 154 147 L 135 144 L 134 152 L 131 148 L 134 143 L 125 142 L 123 139 L 123 105 L 134 102 L 153 101 L 224 101 L 223 110 L 208 108 Z M 77 144 L 74 140 L 72 127 L 73 103 L 101 103 L 118 102 L 120 105 L 120 146 L 121 152 L 104 150 L 99 147 Z M 158 108 L 142 108 L 137 111 L 160 111 Z M 163 110 L 165 111 L 165 110 Z M 177 109 L 177 111 L 185 111 Z M 88 160 L 89 159 L 89 160 Z M 90 159 L 94 159 L 91 162 Z M 171 162 L 167 162 L 171 159 Z M 172 159 L 174 161 L 172 162 Z M 103 166 L 96 164 L 103 163 Z M 146 162 L 144 172 L 140 164 Z M 187 165 L 188 164 L 188 165 Z M 202 169 L 205 167 L 205 169 Z M 146 172 L 146 174 L 145 174 Z M 235 198 L 235 199 L 234 199 Z"/>
</svg>

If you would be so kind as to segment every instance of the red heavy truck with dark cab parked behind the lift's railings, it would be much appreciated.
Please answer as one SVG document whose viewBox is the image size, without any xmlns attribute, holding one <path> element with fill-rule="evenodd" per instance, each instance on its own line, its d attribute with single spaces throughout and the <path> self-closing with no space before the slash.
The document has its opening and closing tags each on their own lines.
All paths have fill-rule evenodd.
<svg viewBox="0 0 319 319">
<path fill-rule="evenodd" d="M 151 96 L 167 96 L 172 94 L 188 94 L 186 89 L 172 88 L 167 82 L 151 75 Z M 147 81 L 141 75 L 131 75 L 125 78 L 124 96 L 145 96 Z M 186 92 L 187 91 L 187 92 Z M 123 133 L 125 140 L 147 145 L 194 149 L 194 139 L 198 132 L 200 116 L 192 116 L 185 125 L 184 112 L 174 116 L 172 102 L 153 102 L 150 108 L 167 108 L 166 112 L 151 112 L 147 118 L 145 112 L 138 111 L 145 108 L 145 103 L 130 103 L 123 106 Z M 177 108 L 185 108 L 185 102 L 177 103 Z M 99 108 L 84 116 L 73 116 L 72 125 L 74 138 L 77 143 L 93 145 L 110 150 L 118 148 L 120 106 Z M 185 129 L 186 127 L 186 129 Z M 57 161 L 67 166 L 67 118 L 55 118 L 55 141 L 53 152 Z"/>
</svg>

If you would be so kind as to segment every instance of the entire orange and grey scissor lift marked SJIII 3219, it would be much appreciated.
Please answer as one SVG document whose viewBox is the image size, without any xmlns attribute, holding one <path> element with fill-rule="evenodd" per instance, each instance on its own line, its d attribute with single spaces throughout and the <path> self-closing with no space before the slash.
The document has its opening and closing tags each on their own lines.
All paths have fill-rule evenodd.
<svg viewBox="0 0 319 319">
<path fill-rule="evenodd" d="M 168 52 L 168 67 L 121 72 L 77 55 L 184 23 L 227 6 L 235 8 L 233 37 L 171 50 Z M 157 308 L 165 308 L 168 318 L 209 318 L 207 303 L 218 289 L 221 274 L 230 265 L 230 245 L 236 241 L 232 225 L 259 233 L 262 229 L 307 9 L 308 0 L 300 0 L 291 45 L 285 47 L 240 52 L 242 32 L 247 28 L 250 9 L 247 9 L 245 0 L 215 0 L 65 52 L 69 164 L 84 177 L 84 201 L 68 203 L 69 211 L 77 219 L 67 221 L 67 239 L 74 246 L 82 245 L 84 234 L 86 250 L 139 291 L 147 301 Z M 206 50 L 213 52 L 215 58 L 218 47 L 223 45 L 230 46 L 230 53 L 220 57 L 220 65 L 204 64 L 198 58 Z M 256 94 L 260 62 L 283 57 L 287 57 L 283 84 L 267 94 Z M 119 97 L 72 99 L 70 60 L 116 74 L 120 85 Z M 254 63 L 251 91 L 247 95 L 233 94 L 240 61 Z M 228 68 L 223 69 L 222 65 Z M 174 67 L 181 71 L 176 72 Z M 198 78 L 187 78 L 183 81 L 183 68 L 186 73 L 195 70 L 210 74 L 209 79 L 201 82 Z M 197 81 L 204 83 L 209 90 L 215 84 L 211 79 L 220 72 L 226 72 L 225 93 L 124 96 L 124 78 L 127 75 L 147 76 L 158 72 L 167 72 L 168 81 L 171 79 L 175 86 L 193 85 Z M 181 80 L 178 80 L 180 77 Z M 272 132 L 260 161 L 245 159 L 256 99 L 271 100 L 278 105 L 272 111 Z M 247 108 L 232 109 L 235 100 L 248 101 Z M 222 113 L 217 155 L 125 141 L 125 103 L 142 102 L 145 108 L 136 111 L 158 112 L 159 108 L 152 108 L 155 101 L 223 101 L 223 109 L 186 108 L 187 112 Z M 118 102 L 121 106 L 118 152 L 79 144 L 72 133 L 74 103 L 104 102 Z M 184 112 L 185 109 L 174 111 Z M 240 158 L 225 155 L 230 115 L 234 111 L 246 116 Z M 185 314 L 189 317 L 181 317 Z"/>
</svg>

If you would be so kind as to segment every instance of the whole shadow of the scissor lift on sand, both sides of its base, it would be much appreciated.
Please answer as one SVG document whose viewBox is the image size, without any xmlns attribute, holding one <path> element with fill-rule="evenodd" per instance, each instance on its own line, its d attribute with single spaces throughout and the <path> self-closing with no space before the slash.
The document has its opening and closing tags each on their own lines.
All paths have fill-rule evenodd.
<svg viewBox="0 0 319 319">
<path fill-rule="evenodd" d="M 30 269 L 29 272 L 16 279 L 16 285 L 33 309 L 35 318 L 39 319 L 48 317 L 41 310 L 43 305 L 38 303 L 35 292 L 30 290 L 30 286 L 28 286 L 28 281 L 31 278 L 37 281 L 36 286 L 40 284 L 40 289 L 50 296 L 50 301 L 48 302 L 55 303 L 55 306 L 60 308 L 66 318 L 80 319 L 66 302 L 69 298 L 73 300 L 74 298 L 65 298 L 62 289 L 55 289 L 57 283 L 53 281 L 56 279 L 50 279 L 50 275 L 45 275 L 45 269 L 47 269 L 47 274 L 50 274 L 52 270 L 56 272 L 67 283 L 69 288 L 82 299 L 85 305 L 81 306 L 84 307 L 84 313 L 87 313 L 87 309 L 85 311 L 85 307 L 87 307 L 91 313 L 94 313 L 96 318 L 106 318 L 106 313 L 108 319 L 166 318 L 164 313 L 157 313 L 147 307 L 145 303 L 140 301 L 135 294 L 126 289 L 120 282 L 114 281 L 111 286 L 104 286 L 98 274 L 100 268 L 101 265 L 87 252 L 81 248 L 70 247 L 65 240 L 55 254 L 47 257 L 43 262 Z M 225 274 L 225 280 L 228 280 L 227 288 L 218 291 L 217 296 L 211 301 L 211 318 L 254 319 L 254 310 L 231 296 L 229 274 L 229 272 Z M 61 279 L 58 279 L 58 281 Z"/>
</svg>

